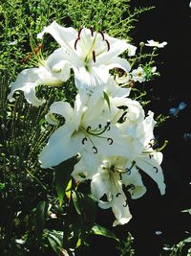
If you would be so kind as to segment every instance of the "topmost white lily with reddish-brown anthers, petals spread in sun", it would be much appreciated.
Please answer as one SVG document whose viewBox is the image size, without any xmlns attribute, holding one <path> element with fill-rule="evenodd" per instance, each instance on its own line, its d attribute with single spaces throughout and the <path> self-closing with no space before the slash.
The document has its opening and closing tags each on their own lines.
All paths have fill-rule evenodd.
<svg viewBox="0 0 191 256">
<path fill-rule="evenodd" d="M 126 59 L 118 57 L 130 47 L 125 40 L 102 32 L 94 33 L 92 29 L 86 28 L 76 32 L 74 28 L 64 28 L 55 21 L 37 37 L 42 38 L 45 33 L 53 35 L 61 46 L 57 50 L 59 57 L 70 63 L 70 68 L 74 69 L 75 85 L 78 89 L 105 84 L 110 76 L 110 69 L 120 68 L 127 73 L 131 69 Z M 70 69 L 65 72 L 69 77 Z"/>
</svg>

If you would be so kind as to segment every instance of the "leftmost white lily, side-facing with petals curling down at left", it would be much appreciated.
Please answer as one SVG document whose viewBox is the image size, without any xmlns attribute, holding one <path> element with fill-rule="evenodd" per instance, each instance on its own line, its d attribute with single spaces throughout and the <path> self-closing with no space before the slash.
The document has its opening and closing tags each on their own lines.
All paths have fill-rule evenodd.
<svg viewBox="0 0 191 256">
<path fill-rule="evenodd" d="M 40 100 L 35 96 L 35 87 L 38 85 L 49 85 L 49 86 L 60 86 L 63 82 L 60 77 L 58 77 L 57 72 L 50 68 L 50 62 L 53 62 L 55 58 L 55 53 L 53 53 L 47 60 L 42 60 L 39 63 L 37 68 L 28 68 L 18 74 L 16 81 L 11 82 L 11 92 L 8 96 L 10 102 L 14 101 L 13 94 L 17 90 L 24 92 L 25 99 L 29 104 L 32 105 L 42 105 L 45 100 Z M 57 58 L 56 58 L 57 59 Z M 59 69 L 63 74 L 63 69 L 66 67 L 66 64 L 59 61 Z M 67 78 L 68 79 L 68 78 Z"/>
</svg>

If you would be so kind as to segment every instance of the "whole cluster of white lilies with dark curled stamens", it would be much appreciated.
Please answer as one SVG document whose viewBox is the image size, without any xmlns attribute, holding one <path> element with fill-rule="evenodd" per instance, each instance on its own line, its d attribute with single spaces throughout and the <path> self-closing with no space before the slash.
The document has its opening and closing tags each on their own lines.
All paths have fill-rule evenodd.
<svg viewBox="0 0 191 256">
<path fill-rule="evenodd" d="M 50 106 L 47 122 L 56 125 L 57 115 L 65 122 L 51 135 L 39 154 L 39 162 L 42 168 L 53 168 L 75 156 L 74 180 L 91 180 L 98 205 L 112 208 L 114 225 L 125 224 L 132 218 L 125 191 L 132 198 L 146 192 L 141 172 L 158 184 L 161 195 L 165 193 L 162 153 L 155 147 L 154 113 L 145 113 L 138 101 L 129 97 L 131 89 L 126 86 L 130 81 L 145 81 L 146 74 L 140 66 L 131 71 L 129 61 L 119 57 L 124 51 L 134 56 L 137 47 L 92 28 L 77 32 L 55 21 L 38 38 L 45 34 L 52 35 L 59 48 L 47 59 L 39 54 L 39 66 L 25 69 L 11 82 L 9 100 L 13 100 L 15 90 L 22 90 L 28 103 L 42 105 L 44 100 L 36 97 L 35 87 L 60 86 L 69 80 L 73 70 L 74 105 L 58 101 Z M 165 44 L 148 41 L 148 46 L 153 47 Z M 115 68 L 122 70 L 122 77 L 110 72 Z"/>
</svg>

